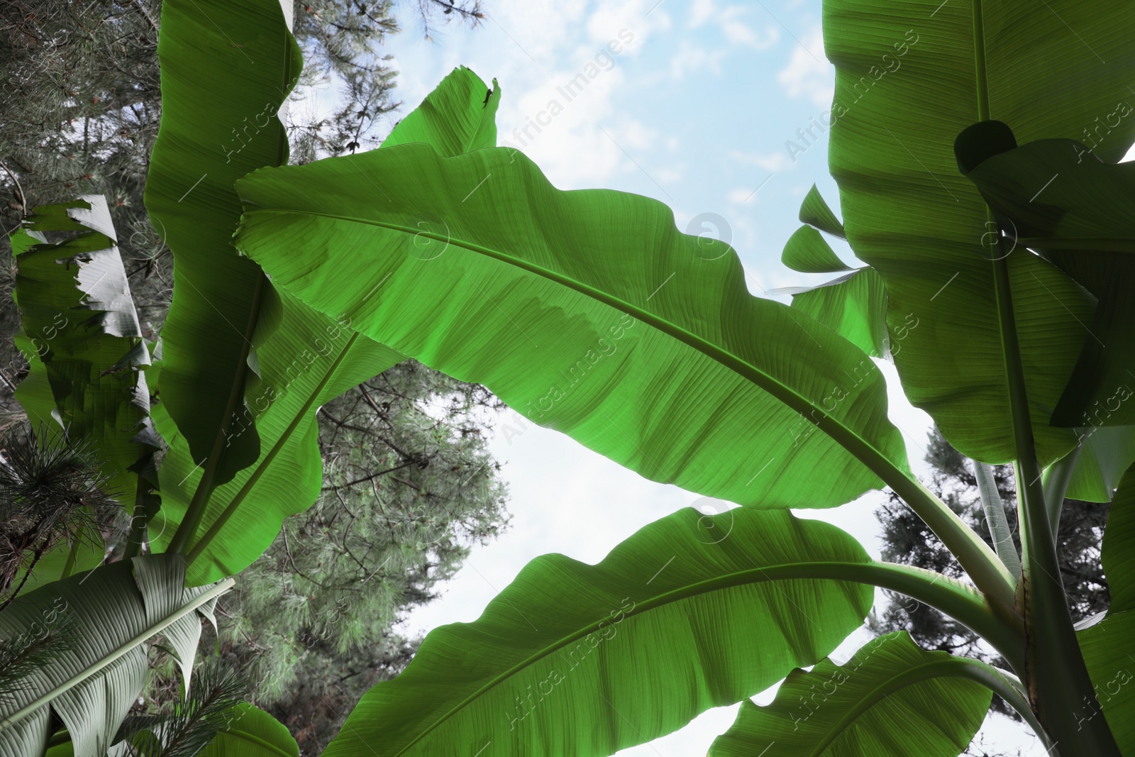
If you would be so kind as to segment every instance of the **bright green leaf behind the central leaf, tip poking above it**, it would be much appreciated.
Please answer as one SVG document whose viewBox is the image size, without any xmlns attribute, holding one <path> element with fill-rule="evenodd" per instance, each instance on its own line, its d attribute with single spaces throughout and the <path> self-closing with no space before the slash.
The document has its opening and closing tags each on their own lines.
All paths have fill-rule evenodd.
<svg viewBox="0 0 1135 757">
<path fill-rule="evenodd" d="M 426 142 L 459 154 L 493 146 L 501 90 L 488 101 L 485 93 L 477 74 L 454 69 L 395 127 L 384 148 Z M 257 343 L 257 378 L 245 394 L 261 439 L 260 457 L 213 491 L 202 520 L 207 529 L 191 552 L 191 584 L 243 570 L 276 538 L 284 518 L 311 506 L 322 483 L 316 411 L 404 359 L 345 328 L 345 320 L 312 310 L 287 292 L 268 292 L 270 306 L 262 308 L 261 318 L 274 328 L 263 344 Z M 165 546 L 183 521 L 202 471 L 160 407 L 154 418 L 170 446 L 161 468 L 166 504 L 153 525 L 154 541 Z M 242 421 L 232 432 L 244 426 L 251 423 Z"/>
</svg>

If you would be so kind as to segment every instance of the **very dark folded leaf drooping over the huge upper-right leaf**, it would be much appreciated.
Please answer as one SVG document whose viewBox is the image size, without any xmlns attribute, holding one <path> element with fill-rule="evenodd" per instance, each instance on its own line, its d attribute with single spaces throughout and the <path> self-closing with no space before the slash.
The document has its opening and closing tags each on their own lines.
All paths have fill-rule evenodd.
<svg viewBox="0 0 1135 757">
<path fill-rule="evenodd" d="M 958 160 L 1016 244 L 1040 252 L 1099 301 L 1081 325 L 1084 346 L 1051 422 L 1135 423 L 1135 166 L 1104 163 L 1075 140 L 1017 146 L 1000 121 L 962 132 Z"/>
</svg>

